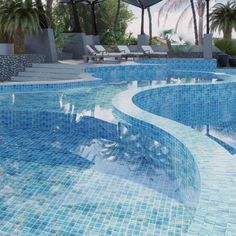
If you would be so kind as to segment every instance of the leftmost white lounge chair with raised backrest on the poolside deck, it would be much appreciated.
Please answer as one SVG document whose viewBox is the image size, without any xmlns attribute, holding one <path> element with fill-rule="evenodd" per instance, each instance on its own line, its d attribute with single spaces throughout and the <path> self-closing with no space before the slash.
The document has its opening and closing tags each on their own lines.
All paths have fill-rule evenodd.
<svg viewBox="0 0 236 236">
<path fill-rule="evenodd" d="M 110 54 L 104 52 L 96 52 L 91 46 L 86 45 L 87 55 L 84 56 L 84 61 L 89 62 L 93 61 L 102 61 L 104 58 L 115 58 L 118 62 L 121 61 L 121 54 Z"/>
</svg>

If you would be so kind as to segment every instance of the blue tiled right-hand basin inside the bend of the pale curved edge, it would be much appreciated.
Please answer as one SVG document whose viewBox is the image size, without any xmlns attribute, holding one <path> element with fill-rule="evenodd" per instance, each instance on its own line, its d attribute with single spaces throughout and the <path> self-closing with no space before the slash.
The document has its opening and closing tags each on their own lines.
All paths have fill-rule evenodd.
<svg viewBox="0 0 236 236">
<path fill-rule="evenodd" d="M 212 86 L 212 87 L 211 87 Z M 173 87 L 152 91 L 139 106 L 191 126 L 236 153 L 236 88 L 234 85 Z M 142 96 L 142 95 L 140 95 Z M 137 101 L 139 100 L 137 96 Z"/>
</svg>

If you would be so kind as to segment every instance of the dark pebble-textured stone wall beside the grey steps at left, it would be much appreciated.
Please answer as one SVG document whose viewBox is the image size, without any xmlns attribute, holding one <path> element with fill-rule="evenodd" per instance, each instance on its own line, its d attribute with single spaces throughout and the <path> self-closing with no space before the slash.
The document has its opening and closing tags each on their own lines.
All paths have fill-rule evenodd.
<svg viewBox="0 0 236 236">
<path fill-rule="evenodd" d="M 45 56 L 39 54 L 0 55 L 0 80 L 10 80 L 33 63 L 43 63 Z"/>
</svg>

